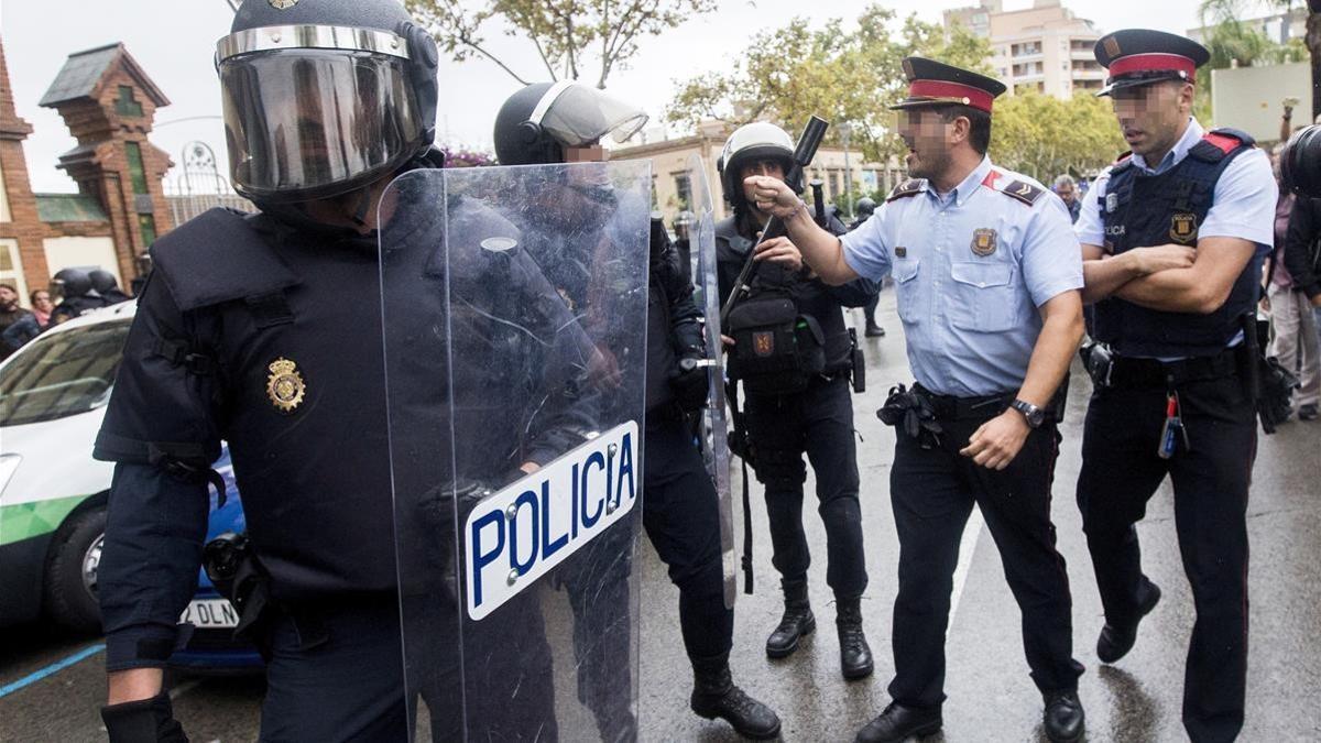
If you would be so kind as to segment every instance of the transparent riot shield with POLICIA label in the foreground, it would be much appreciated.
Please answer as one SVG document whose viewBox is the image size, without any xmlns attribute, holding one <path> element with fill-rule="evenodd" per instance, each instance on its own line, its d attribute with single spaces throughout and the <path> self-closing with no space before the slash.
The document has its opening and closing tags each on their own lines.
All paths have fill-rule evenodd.
<svg viewBox="0 0 1321 743">
<path fill-rule="evenodd" d="M 413 171 L 380 205 L 413 738 L 637 732 L 647 163 Z"/>
</svg>

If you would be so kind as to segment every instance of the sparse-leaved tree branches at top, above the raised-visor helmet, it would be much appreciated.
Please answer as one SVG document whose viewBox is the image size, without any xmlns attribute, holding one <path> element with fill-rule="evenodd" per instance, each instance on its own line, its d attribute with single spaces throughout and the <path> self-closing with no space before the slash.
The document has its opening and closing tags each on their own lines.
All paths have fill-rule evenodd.
<svg viewBox="0 0 1321 743">
<path fill-rule="evenodd" d="M 550 79 L 579 79 L 594 58 L 600 62 L 594 85 L 605 87 L 610 73 L 638 53 L 639 38 L 708 13 L 716 0 L 486 0 L 481 8 L 460 0 L 406 0 L 404 5 L 456 62 L 485 57 L 527 85 L 530 77 L 487 42 L 490 26 L 503 22 L 503 36 L 532 42 Z"/>
</svg>

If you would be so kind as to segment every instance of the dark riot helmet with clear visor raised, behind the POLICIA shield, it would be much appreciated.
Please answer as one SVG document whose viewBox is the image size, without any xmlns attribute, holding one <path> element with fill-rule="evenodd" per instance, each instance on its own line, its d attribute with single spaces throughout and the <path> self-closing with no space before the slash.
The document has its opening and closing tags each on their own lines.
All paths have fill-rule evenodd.
<svg viewBox="0 0 1321 743">
<path fill-rule="evenodd" d="M 588 147 L 605 135 L 625 141 L 647 123 L 641 108 L 575 81 L 538 82 L 510 95 L 495 115 L 501 165 L 564 161 L 565 147 Z"/>
</svg>

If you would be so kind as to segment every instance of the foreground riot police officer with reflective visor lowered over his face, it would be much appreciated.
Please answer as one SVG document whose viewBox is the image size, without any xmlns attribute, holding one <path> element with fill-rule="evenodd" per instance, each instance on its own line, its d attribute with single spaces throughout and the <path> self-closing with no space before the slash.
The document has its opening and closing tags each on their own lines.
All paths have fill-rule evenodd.
<svg viewBox="0 0 1321 743">
<path fill-rule="evenodd" d="M 182 739 L 161 668 L 186 640 L 176 623 L 196 587 L 222 439 L 259 575 L 240 627 L 267 658 L 263 740 L 408 734 L 382 319 L 363 308 L 382 305 L 382 193 L 396 175 L 443 163 L 431 149 L 437 59 L 394 0 L 244 3 L 218 44 L 232 181 L 262 212 L 215 209 L 152 246 L 96 439 L 95 456 L 116 463 L 99 571 L 112 742 Z M 382 213 L 408 234 L 424 208 L 437 206 L 399 198 Z M 547 292 L 513 299 L 553 307 Z M 435 311 L 417 308 L 406 331 L 429 337 Z M 493 431 L 501 422 L 482 432 L 517 444 L 510 468 L 580 440 L 569 427 Z M 354 432 L 347 452 L 334 444 L 343 431 Z M 530 677 L 544 678 L 546 656 L 528 658 Z M 454 653 L 421 661 L 457 677 Z M 457 730 L 452 686 L 429 690 L 437 739 Z M 543 685 L 505 699 L 522 713 L 511 727 L 540 724 L 547 698 L 532 686 Z"/>
</svg>

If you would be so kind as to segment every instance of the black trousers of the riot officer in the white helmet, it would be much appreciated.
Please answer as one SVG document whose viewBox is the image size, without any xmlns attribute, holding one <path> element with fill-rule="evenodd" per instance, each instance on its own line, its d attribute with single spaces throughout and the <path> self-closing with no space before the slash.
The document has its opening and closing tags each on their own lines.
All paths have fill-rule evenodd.
<svg viewBox="0 0 1321 743">
<path fill-rule="evenodd" d="M 745 412 L 757 450 L 757 480 L 766 485 L 775 570 L 785 580 L 802 580 L 811 565 L 803 534 L 806 453 L 816 475 L 818 513 L 826 525 L 826 583 L 839 599 L 861 596 L 867 558 L 848 379 L 815 379 L 793 395 L 748 395 Z"/>
</svg>

